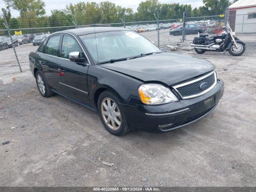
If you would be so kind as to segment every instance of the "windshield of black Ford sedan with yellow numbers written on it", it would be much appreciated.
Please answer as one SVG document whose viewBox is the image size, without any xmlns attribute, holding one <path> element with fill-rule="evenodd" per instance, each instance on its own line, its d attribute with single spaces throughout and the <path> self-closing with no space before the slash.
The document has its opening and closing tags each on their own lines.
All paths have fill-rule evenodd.
<svg viewBox="0 0 256 192">
<path fill-rule="evenodd" d="M 97 63 L 162 52 L 152 42 L 133 31 L 86 34 L 80 36 L 80 39 Z"/>
</svg>

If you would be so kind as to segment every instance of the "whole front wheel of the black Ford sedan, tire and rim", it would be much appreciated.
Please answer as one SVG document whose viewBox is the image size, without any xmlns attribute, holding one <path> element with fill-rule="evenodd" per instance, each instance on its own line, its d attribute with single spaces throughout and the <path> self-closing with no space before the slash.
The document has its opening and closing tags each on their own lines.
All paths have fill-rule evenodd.
<svg viewBox="0 0 256 192">
<path fill-rule="evenodd" d="M 108 132 L 116 136 L 122 136 L 132 130 L 124 114 L 123 106 L 119 103 L 121 100 L 113 92 L 107 90 L 100 94 L 97 104 L 102 124 Z M 114 106 L 114 110 L 110 110 L 109 106 Z M 120 125 L 116 122 L 119 122 Z"/>
</svg>

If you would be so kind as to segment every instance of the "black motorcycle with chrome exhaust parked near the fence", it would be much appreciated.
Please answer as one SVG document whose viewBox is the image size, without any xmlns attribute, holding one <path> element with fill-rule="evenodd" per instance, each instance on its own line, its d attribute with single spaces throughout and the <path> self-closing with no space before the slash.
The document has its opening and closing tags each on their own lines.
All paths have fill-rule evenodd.
<svg viewBox="0 0 256 192">
<path fill-rule="evenodd" d="M 198 54 L 206 51 L 228 51 L 232 56 L 240 56 L 245 51 L 245 43 L 238 39 L 229 24 L 222 28 L 222 31 L 214 36 L 200 34 L 190 44 Z"/>
</svg>

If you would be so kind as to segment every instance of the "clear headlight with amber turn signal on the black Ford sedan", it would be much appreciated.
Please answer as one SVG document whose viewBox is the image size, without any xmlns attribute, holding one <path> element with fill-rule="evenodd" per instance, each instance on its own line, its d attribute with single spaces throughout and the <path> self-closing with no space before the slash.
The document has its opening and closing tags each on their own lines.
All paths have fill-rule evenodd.
<svg viewBox="0 0 256 192">
<path fill-rule="evenodd" d="M 142 103 L 157 105 L 178 101 L 171 90 L 160 84 L 142 84 L 138 88 Z"/>
</svg>

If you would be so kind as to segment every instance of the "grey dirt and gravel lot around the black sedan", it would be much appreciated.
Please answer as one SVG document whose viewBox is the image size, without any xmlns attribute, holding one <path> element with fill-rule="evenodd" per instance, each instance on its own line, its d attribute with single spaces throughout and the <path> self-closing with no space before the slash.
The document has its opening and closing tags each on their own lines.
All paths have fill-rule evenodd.
<svg viewBox="0 0 256 192">
<path fill-rule="evenodd" d="M 176 51 L 214 63 L 225 93 L 214 112 L 164 134 L 113 136 L 96 112 L 58 95 L 43 98 L 28 70 L 16 74 L 0 86 L 0 143 L 10 141 L 0 146 L 0 186 L 256 186 L 256 36 L 240 38 L 240 57 Z M 17 48 L 22 68 L 35 48 Z M 13 56 L 0 52 L 2 75 L 18 72 Z"/>
</svg>

